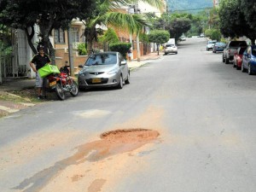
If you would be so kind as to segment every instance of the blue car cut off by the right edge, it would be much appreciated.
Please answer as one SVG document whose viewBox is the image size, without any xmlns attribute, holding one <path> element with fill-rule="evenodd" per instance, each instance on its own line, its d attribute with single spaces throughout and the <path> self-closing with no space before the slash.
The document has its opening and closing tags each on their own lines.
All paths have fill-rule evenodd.
<svg viewBox="0 0 256 192">
<path fill-rule="evenodd" d="M 241 72 L 247 72 L 249 75 L 256 72 L 256 45 L 247 46 L 247 49 L 243 52 L 241 61 Z"/>
</svg>

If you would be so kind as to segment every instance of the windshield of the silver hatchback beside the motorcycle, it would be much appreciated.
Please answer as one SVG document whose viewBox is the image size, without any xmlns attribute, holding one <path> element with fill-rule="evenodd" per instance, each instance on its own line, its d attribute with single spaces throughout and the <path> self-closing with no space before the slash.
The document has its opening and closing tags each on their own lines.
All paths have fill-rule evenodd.
<svg viewBox="0 0 256 192">
<path fill-rule="evenodd" d="M 116 62 L 117 62 L 117 57 L 115 54 L 90 55 L 90 57 L 85 63 L 85 66 L 110 65 L 110 64 L 115 64 Z"/>
</svg>

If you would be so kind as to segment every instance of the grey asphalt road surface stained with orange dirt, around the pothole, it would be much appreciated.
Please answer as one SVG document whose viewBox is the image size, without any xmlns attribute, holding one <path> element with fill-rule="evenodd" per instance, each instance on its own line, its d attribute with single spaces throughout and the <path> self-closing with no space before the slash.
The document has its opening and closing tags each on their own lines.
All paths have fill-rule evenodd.
<svg viewBox="0 0 256 192">
<path fill-rule="evenodd" d="M 122 90 L 85 91 L 0 119 L 0 190 L 256 191 L 256 76 L 206 44 L 188 38 L 177 55 L 133 71 Z M 102 133 L 119 129 L 160 136 L 102 143 Z"/>
</svg>

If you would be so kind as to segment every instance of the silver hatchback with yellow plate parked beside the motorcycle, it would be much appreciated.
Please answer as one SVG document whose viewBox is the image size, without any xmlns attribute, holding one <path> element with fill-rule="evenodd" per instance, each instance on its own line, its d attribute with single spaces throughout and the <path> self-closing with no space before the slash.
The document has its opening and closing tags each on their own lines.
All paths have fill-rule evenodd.
<svg viewBox="0 0 256 192">
<path fill-rule="evenodd" d="M 79 71 L 79 89 L 92 87 L 123 88 L 123 84 L 130 84 L 130 70 L 123 55 L 109 51 L 91 54 Z"/>
</svg>

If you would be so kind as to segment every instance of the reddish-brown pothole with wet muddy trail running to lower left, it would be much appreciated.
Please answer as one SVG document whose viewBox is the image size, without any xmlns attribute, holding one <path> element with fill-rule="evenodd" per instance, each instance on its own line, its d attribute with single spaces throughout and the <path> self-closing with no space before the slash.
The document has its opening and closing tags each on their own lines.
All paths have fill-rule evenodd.
<svg viewBox="0 0 256 192">
<path fill-rule="evenodd" d="M 116 130 L 102 133 L 101 140 L 80 145 L 78 151 L 67 159 L 55 162 L 54 166 L 26 178 L 15 189 L 38 191 L 49 183 L 67 166 L 79 165 L 84 161 L 96 162 L 104 160 L 116 154 L 131 152 L 148 143 L 154 143 L 160 136 L 158 131 L 146 129 Z M 33 183 L 31 185 L 31 183 Z"/>
</svg>

